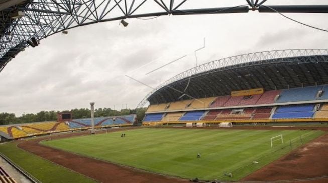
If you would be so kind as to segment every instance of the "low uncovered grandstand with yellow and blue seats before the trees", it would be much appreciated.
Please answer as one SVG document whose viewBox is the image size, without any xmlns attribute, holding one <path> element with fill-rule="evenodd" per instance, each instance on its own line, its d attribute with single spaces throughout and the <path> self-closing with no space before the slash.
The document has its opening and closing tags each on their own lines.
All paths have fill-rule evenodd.
<svg viewBox="0 0 328 183">
<path fill-rule="evenodd" d="M 135 120 L 135 114 L 125 116 L 97 117 L 94 118 L 94 124 L 95 128 L 131 126 Z M 86 130 L 90 128 L 91 118 L 73 119 L 62 122 L 50 121 L 1 126 L 0 135 L 6 139 L 16 139 L 57 132 Z"/>
</svg>

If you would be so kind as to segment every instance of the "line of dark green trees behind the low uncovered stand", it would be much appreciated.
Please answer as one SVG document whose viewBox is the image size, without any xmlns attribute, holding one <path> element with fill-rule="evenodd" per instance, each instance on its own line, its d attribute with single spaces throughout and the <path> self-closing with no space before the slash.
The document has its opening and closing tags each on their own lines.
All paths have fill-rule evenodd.
<svg viewBox="0 0 328 183">
<path fill-rule="evenodd" d="M 0 125 L 20 124 L 29 122 L 56 121 L 57 113 L 60 111 L 40 111 L 36 114 L 28 113 L 16 117 L 14 113 L 0 113 Z M 90 118 L 91 111 L 88 108 L 64 110 L 61 112 L 72 112 L 73 119 Z M 140 122 L 145 116 L 146 108 L 122 109 L 121 111 L 112 110 L 111 108 L 98 108 L 94 110 L 94 117 L 120 116 L 137 114 L 136 121 Z"/>
</svg>

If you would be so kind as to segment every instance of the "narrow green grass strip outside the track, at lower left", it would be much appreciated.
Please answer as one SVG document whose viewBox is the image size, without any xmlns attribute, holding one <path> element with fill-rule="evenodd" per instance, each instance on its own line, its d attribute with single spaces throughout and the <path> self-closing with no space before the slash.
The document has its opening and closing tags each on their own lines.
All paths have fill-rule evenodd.
<svg viewBox="0 0 328 183">
<path fill-rule="evenodd" d="M 86 176 L 24 151 L 16 145 L 17 143 L 2 144 L 0 145 L 0 152 L 41 182 L 96 182 Z"/>
</svg>

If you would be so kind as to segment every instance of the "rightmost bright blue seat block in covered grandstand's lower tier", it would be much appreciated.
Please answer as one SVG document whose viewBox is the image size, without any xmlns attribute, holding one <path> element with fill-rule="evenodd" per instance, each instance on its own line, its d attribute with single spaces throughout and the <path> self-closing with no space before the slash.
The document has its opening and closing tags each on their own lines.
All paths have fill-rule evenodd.
<svg viewBox="0 0 328 183">
<path fill-rule="evenodd" d="M 312 118 L 314 104 L 280 106 L 273 114 L 272 119 Z"/>
</svg>

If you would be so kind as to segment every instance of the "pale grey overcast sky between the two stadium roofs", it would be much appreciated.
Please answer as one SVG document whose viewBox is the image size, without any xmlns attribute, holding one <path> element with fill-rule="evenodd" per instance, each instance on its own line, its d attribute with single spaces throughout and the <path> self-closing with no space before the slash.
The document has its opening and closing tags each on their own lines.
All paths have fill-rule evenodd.
<svg viewBox="0 0 328 183">
<path fill-rule="evenodd" d="M 245 0 L 190 0 L 180 9 L 245 4 Z M 211 2 L 210 2 L 211 1 Z M 201 3 L 201 4 L 197 4 Z M 327 0 L 268 0 L 273 4 L 328 4 Z M 214 4 L 214 5 L 212 5 Z M 328 29 L 328 14 L 286 14 Z M 237 54 L 299 48 L 328 48 L 328 33 L 276 13 L 160 16 L 78 27 L 55 34 L 19 53 L 0 72 L 0 112 L 35 113 L 89 107 L 135 108 L 151 87 L 198 64 Z M 168 66 L 145 75 L 170 61 Z M 147 64 L 151 62 L 150 64 Z"/>
</svg>

